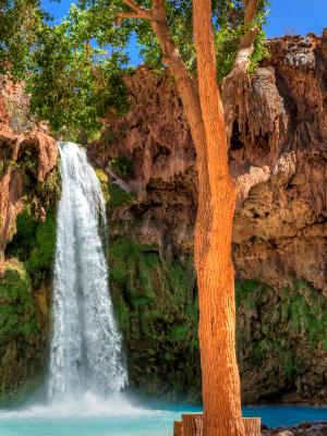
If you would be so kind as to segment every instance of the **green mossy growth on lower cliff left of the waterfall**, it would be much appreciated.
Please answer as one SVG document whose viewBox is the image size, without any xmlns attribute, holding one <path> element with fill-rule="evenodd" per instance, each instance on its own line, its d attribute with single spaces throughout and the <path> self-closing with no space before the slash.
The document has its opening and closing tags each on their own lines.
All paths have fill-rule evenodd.
<svg viewBox="0 0 327 436">
<path fill-rule="evenodd" d="M 0 277 L 0 403 L 25 401 L 45 374 L 55 246 L 55 210 L 41 222 L 29 204 Z"/>
</svg>

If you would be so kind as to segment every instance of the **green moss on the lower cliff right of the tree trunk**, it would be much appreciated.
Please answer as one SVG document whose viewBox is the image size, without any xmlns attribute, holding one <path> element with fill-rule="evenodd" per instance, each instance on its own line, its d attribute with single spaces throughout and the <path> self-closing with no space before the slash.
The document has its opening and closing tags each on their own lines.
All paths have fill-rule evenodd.
<svg viewBox="0 0 327 436">
<path fill-rule="evenodd" d="M 327 301 L 323 294 L 303 281 L 279 289 L 238 280 L 235 292 L 238 355 L 245 383 L 253 387 L 252 399 L 258 400 L 261 391 L 274 398 L 280 391 L 298 390 L 301 397 L 317 389 L 318 375 L 311 380 L 305 374 L 315 364 L 318 373 L 319 355 L 327 352 Z M 323 378 L 319 383 L 324 385 Z M 306 393 L 301 391 L 302 384 Z"/>
</svg>

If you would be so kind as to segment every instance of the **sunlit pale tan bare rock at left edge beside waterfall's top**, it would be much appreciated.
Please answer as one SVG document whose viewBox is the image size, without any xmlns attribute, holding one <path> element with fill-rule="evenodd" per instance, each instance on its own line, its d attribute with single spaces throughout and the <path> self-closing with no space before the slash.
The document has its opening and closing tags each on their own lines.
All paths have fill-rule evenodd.
<svg viewBox="0 0 327 436">
<path fill-rule="evenodd" d="M 20 101 L 17 95 L 23 94 L 23 90 L 19 88 L 19 93 L 13 85 L 14 90 L 9 88 L 8 82 L 4 84 L 2 82 L 5 92 L 2 89 L 0 94 L 0 274 L 3 271 L 5 246 L 15 232 L 16 217 L 24 206 L 26 183 L 34 183 L 34 187 L 37 183 L 46 184 L 58 161 L 56 141 L 41 129 L 37 126 L 24 133 L 12 129 L 13 121 L 8 111 L 8 101 L 10 98 L 13 99 L 13 104 Z M 31 186 L 29 191 L 33 191 Z M 39 202 L 36 214 L 45 216 L 44 205 Z"/>
</svg>

